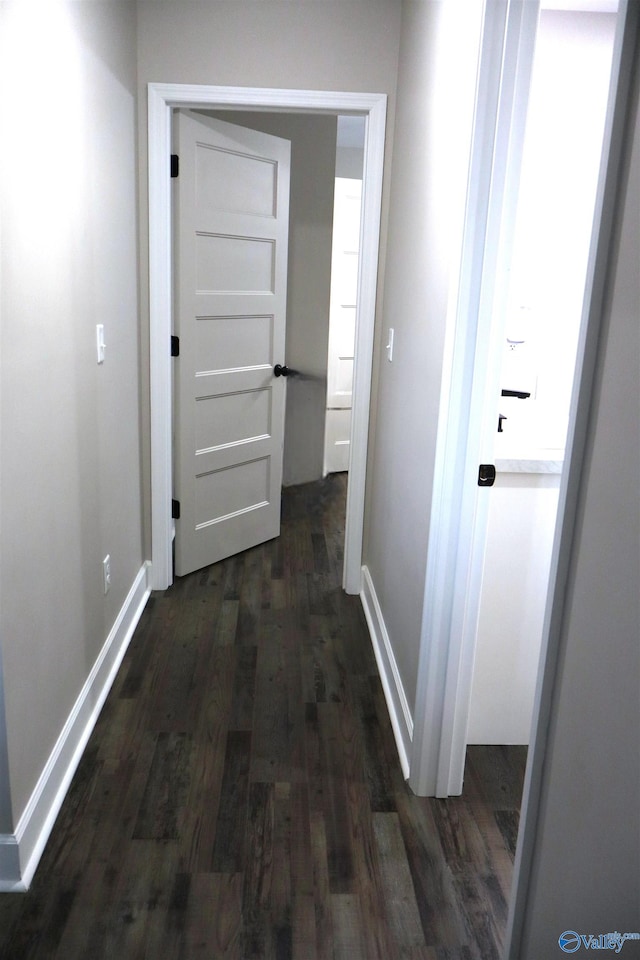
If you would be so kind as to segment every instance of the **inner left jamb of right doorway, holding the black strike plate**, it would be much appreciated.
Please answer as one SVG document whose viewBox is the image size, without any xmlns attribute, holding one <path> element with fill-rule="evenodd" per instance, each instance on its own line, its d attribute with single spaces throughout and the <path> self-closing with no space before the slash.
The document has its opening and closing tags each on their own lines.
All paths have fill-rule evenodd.
<svg viewBox="0 0 640 960">
<path fill-rule="evenodd" d="M 477 471 L 479 463 L 492 462 L 495 456 L 495 403 L 500 393 L 500 353 L 497 347 L 504 336 L 506 322 L 508 277 L 538 16 L 537 2 L 511 0 L 502 58 L 503 76 L 483 251 L 467 439 L 467 483 L 462 515 L 470 521 L 466 528 L 470 539 L 465 539 L 456 569 L 454 589 L 464 601 L 456 604 L 452 618 L 436 783 L 439 797 L 462 793 L 490 503 L 489 497 L 485 496 L 486 490 L 477 486 Z"/>
</svg>

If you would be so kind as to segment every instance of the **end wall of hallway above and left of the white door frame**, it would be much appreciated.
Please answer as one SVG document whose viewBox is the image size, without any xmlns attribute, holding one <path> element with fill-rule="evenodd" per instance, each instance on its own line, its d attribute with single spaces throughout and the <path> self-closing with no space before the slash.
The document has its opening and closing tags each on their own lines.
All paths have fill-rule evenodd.
<svg viewBox="0 0 640 960">
<path fill-rule="evenodd" d="M 393 118 L 401 6 L 396 0 L 142 0 L 138 8 L 143 394 L 148 393 L 146 87 L 200 83 L 386 93 Z M 188 10 L 188 16 L 185 12 Z M 390 142 L 390 141 L 389 141 Z M 390 161 L 391 151 L 387 149 Z M 382 277 L 382 273 L 381 273 Z M 326 351 L 325 351 L 326 352 Z M 323 358 L 324 360 L 324 358 Z M 143 430 L 150 489 L 148 410 Z M 149 551 L 150 498 L 146 498 Z"/>
</svg>

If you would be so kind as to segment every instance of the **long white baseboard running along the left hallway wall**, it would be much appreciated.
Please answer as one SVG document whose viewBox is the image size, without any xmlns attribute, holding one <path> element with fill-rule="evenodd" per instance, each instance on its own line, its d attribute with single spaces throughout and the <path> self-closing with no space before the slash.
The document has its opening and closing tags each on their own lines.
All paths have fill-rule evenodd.
<svg viewBox="0 0 640 960">
<path fill-rule="evenodd" d="M 0 834 L 0 892 L 29 888 L 73 775 L 151 593 L 145 562 L 58 737 L 15 834 Z"/>
</svg>

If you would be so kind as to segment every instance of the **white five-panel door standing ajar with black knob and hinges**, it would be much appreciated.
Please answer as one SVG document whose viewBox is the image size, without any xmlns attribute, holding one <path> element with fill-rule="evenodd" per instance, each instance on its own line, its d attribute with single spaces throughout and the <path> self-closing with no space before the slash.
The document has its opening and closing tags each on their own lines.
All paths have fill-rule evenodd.
<svg viewBox="0 0 640 960">
<path fill-rule="evenodd" d="M 276 537 L 290 143 L 180 111 L 175 182 L 175 572 Z"/>
</svg>

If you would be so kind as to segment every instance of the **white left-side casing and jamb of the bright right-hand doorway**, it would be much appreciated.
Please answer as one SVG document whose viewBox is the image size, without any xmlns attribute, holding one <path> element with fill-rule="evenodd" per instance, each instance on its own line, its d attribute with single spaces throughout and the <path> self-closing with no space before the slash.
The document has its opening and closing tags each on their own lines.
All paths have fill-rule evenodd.
<svg viewBox="0 0 640 960">
<path fill-rule="evenodd" d="M 486 500 L 478 498 L 496 276 L 508 243 L 503 198 L 519 171 L 536 0 L 485 8 L 460 269 L 445 352 L 411 756 L 421 796 L 462 791 Z M 497 379 L 496 379 L 497 382 Z"/>
</svg>

